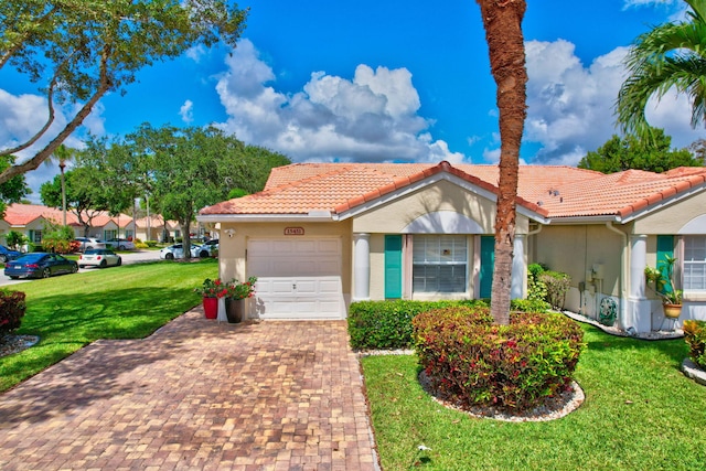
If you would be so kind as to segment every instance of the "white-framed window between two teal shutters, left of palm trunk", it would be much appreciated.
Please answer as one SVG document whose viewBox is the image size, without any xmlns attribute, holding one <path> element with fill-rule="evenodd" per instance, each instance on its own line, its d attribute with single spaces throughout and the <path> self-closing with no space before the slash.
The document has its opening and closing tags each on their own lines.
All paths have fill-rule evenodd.
<svg viewBox="0 0 706 471">
<path fill-rule="evenodd" d="M 466 292 L 468 242 L 466 236 L 415 235 L 414 292 Z"/>
</svg>

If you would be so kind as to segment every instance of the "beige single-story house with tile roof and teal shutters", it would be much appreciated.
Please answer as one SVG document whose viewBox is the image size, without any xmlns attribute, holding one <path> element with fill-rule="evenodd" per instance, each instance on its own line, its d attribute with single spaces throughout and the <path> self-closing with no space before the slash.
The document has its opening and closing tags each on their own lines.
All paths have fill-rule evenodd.
<svg viewBox="0 0 706 471">
<path fill-rule="evenodd" d="M 217 224 L 220 276 L 258 277 L 248 315 L 342 319 L 356 300 L 490 296 L 496 165 L 298 163 L 272 169 L 263 192 L 203 208 Z M 513 298 L 527 265 L 571 277 L 566 309 L 659 329 L 644 268 L 678 258 L 681 320 L 706 319 L 706 169 L 613 174 L 522 165 Z"/>
</svg>

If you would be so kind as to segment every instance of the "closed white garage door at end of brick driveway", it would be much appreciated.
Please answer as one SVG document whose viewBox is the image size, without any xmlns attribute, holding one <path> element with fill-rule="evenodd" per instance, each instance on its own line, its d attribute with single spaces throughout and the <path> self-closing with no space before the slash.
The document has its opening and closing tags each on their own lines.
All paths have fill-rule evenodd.
<svg viewBox="0 0 706 471">
<path fill-rule="evenodd" d="M 252 239 L 247 271 L 257 277 L 260 319 L 343 319 L 341 240 Z"/>
</svg>

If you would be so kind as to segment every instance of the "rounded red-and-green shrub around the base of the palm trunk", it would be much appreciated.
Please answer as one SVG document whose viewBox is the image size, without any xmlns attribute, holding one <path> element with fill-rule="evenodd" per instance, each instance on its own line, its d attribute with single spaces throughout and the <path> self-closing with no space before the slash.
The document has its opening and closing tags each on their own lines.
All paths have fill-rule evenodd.
<svg viewBox="0 0 706 471">
<path fill-rule="evenodd" d="M 584 332 L 558 313 L 511 312 L 493 324 L 489 308 L 453 307 L 413 320 L 430 385 L 461 408 L 523 411 L 570 387 Z"/>
</svg>

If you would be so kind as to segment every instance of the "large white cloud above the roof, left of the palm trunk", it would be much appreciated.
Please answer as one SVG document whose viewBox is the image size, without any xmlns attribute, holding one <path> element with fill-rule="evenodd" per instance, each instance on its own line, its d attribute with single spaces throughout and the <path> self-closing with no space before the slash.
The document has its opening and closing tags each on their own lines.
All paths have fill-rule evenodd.
<svg viewBox="0 0 706 471">
<path fill-rule="evenodd" d="M 406 68 L 361 64 L 353 78 L 314 72 L 301 92 L 286 95 L 252 42 L 226 58 L 216 90 L 228 119 L 221 126 L 248 143 L 302 160 L 462 161 L 428 133 L 419 95 Z"/>
</svg>

